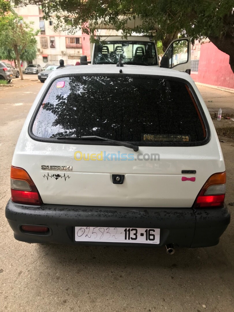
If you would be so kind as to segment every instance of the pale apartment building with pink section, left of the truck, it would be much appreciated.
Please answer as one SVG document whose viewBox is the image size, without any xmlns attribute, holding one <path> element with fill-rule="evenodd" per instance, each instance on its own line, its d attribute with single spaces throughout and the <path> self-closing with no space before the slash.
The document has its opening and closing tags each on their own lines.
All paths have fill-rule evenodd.
<svg viewBox="0 0 234 312">
<path fill-rule="evenodd" d="M 82 54 L 87 55 L 90 60 L 90 39 L 89 35 L 82 34 L 77 30 L 75 35 L 68 32 L 54 32 L 54 19 L 46 21 L 43 18 L 41 6 L 27 5 L 18 7 L 18 15 L 22 16 L 25 22 L 34 22 L 33 28 L 40 30 L 37 35 L 37 58 L 33 62 L 43 67 L 46 63 L 58 64 L 62 58 L 67 64 L 76 64 Z M 24 64 L 23 68 L 27 64 Z"/>
</svg>

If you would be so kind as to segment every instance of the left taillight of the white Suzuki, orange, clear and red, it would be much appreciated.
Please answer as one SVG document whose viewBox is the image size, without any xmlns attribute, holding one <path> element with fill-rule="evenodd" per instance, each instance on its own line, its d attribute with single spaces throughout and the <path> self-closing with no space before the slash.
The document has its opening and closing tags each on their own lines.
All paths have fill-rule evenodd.
<svg viewBox="0 0 234 312">
<path fill-rule="evenodd" d="M 41 205 L 41 197 L 28 173 L 17 167 L 11 167 L 12 202 L 27 205 Z"/>
</svg>

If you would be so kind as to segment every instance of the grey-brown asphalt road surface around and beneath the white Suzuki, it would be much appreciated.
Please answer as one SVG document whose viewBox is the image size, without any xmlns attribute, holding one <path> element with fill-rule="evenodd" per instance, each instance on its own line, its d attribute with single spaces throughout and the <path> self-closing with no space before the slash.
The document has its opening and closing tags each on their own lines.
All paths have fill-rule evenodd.
<svg viewBox="0 0 234 312">
<path fill-rule="evenodd" d="M 12 154 L 40 82 L 0 91 L 0 312 L 233 312 L 233 221 L 217 246 L 176 249 L 27 244 L 4 209 Z M 234 147 L 221 143 L 226 202 L 234 202 Z M 233 210 L 233 207 L 229 207 Z"/>
</svg>

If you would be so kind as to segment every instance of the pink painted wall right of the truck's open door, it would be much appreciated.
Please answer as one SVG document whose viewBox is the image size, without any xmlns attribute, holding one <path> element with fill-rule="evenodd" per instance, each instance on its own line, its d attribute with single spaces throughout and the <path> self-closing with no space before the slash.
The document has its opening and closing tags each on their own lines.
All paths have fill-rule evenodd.
<svg viewBox="0 0 234 312">
<path fill-rule="evenodd" d="M 234 74 L 229 65 L 229 56 L 212 42 L 201 45 L 198 72 L 191 72 L 196 82 L 234 89 Z"/>
</svg>

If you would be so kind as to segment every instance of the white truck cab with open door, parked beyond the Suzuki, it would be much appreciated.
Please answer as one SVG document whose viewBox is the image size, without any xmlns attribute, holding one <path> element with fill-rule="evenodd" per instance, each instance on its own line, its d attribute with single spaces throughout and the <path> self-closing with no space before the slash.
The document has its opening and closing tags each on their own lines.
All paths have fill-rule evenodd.
<svg viewBox="0 0 234 312">
<path fill-rule="evenodd" d="M 85 64 L 122 64 L 159 66 L 157 48 L 150 37 L 121 36 L 97 37 L 99 41 L 90 44 L 91 61 L 81 56 L 81 65 Z M 162 57 L 160 67 L 172 68 L 190 74 L 191 44 L 189 38 L 175 39 Z"/>
</svg>

